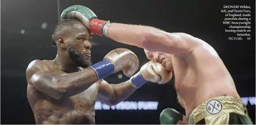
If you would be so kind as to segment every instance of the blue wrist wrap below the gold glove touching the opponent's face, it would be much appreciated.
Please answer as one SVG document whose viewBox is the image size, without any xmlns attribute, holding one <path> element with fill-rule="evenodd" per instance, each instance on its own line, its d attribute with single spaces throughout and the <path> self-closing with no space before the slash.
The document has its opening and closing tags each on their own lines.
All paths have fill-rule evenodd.
<svg viewBox="0 0 256 125">
<path fill-rule="evenodd" d="M 143 86 L 145 83 L 147 83 L 147 80 L 141 75 L 140 72 L 136 73 L 131 77 L 131 83 L 134 85 L 136 88 L 140 88 Z"/>
</svg>

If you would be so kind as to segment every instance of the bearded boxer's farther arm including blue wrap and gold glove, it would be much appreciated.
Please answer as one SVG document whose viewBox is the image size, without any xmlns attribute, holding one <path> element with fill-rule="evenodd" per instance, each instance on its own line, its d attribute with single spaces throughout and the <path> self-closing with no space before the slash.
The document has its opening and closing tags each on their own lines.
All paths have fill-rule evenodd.
<svg viewBox="0 0 256 125">
<path fill-rule="evenodd" d="M 130 95 L 145 83 L 167 83 L 172 78 L 172 72 L 166 70 L 162 64 L 150 61 L 141 67 L 140 71 L 133 75 L 130 80 L 120 84 L 108 84 L 105 80 L 99 83 L 98 101 L 107 105 L 116 105 L 130 97 Z"/>
</svg>

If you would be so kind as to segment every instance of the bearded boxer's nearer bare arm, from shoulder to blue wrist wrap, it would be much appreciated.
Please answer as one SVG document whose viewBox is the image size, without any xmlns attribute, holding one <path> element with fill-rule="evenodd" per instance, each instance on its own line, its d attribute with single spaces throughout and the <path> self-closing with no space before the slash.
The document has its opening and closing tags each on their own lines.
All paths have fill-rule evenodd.
<svg viewBox="0 0 256 125">
<path fill-rule="evenodd" d="M 27 81 L 35 89 L 55 99 L 81 93 L 98 80 L 96 72 L 91 68 L 74 73 L 60 73 L 47 71 L 44 67 L 42 61 L 31 62 L 26 70 Z"/>
</svg>

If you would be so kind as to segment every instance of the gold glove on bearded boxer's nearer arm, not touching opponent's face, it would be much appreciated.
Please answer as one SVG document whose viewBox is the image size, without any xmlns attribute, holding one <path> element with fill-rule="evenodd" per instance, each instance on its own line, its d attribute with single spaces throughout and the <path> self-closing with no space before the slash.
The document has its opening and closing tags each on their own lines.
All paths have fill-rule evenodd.
<svg viewBox="0 0 256 125">
<path fill-rule="evenodd" d="M 115 72 L 123 70 L 127 77 L 131 77 L 139 68 L 139 58 L 131 50 L 125 48 L 114 49 L 104 57 L 115 65 Z"/>
</svg>

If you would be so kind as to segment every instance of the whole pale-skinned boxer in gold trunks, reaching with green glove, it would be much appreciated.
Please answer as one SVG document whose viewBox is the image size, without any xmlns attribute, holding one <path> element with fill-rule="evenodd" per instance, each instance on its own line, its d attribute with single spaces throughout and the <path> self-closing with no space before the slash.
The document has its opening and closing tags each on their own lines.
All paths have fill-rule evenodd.
<svg viewBox="0 0 256 125">
<path fill-rule="evenodd" d="M 252 124 L 229 71 L 207 42 L 151 26 L 110 23 L 85 6 L 70 6 L 62 16 L 80 19 L 92 34 L 144 48 L 147 58 L 173 71 L 190 124 Z"/>
</svg>

